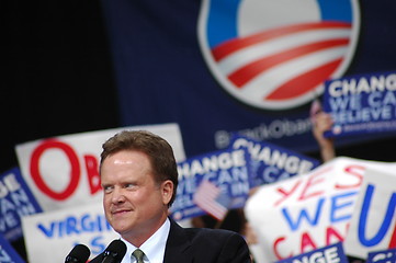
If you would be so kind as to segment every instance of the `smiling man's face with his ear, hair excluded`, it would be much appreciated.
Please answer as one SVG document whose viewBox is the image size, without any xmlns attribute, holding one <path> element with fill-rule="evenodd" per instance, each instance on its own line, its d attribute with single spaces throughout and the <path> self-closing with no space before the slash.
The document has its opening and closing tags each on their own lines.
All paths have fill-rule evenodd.
<svg viewBox="0 0 396 263">
<path fill-rule="evenodd" d="M 101 165 L 103 207 L 115 231 L 125 239 L 152 235 L 167 218 L 173 187 L 158 185 L 148 157 L 140 151 L 120 151 Z"/>
</svg>

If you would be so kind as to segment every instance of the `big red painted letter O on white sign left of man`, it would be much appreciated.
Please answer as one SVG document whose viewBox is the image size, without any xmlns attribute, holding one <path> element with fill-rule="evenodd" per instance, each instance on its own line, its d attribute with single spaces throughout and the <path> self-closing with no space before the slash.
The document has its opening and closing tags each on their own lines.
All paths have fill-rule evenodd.
<svg viewBox="0 0 396 263">
<path fill-rule="evenodd" d="M 70 161 L 70 182 L 67 187 L 61 192 L 53 191 L 46 184 L 46 182 L 44 182 L 39 171 L 39 159 L 43 153 L 49 149 L 59 149 L 64 151 Z M 41 145 L 38 145 L 38 147 L 32 153 L 30 169 L 33 181 L 35 182 L 37 187 L 48 197 L 57 201 L 64 201 L 68 198 L 76 191 L 80 181 L 81 171 L 77 155 L 70 146 L 55 139 L 44 140 Z"/>
</svg>

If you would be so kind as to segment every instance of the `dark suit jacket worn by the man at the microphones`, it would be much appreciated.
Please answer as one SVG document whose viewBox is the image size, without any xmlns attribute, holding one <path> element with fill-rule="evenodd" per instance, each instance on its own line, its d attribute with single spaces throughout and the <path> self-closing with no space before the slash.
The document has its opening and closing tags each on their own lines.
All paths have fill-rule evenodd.
<svg viewBox="0 0 396 263">
<path fill-rule="evenodd" d="M 100 254 L 90 263 L 100 263 L 102 259 Z M 223 229 L 182 228 L 170 219 L 163 263 L 250 262 L 249 248 L 239 233 Z"/>
</svg>

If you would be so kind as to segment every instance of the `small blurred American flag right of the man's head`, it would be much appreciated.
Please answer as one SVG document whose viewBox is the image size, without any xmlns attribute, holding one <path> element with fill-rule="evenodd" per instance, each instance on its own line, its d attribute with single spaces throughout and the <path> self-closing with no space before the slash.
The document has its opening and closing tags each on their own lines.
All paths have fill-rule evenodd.
<svg viewBox="0 0 396 263">
<path fill-rule="evenodd" d="M 194 194 L 194 203 L 217 220 L 223 220 L 227 215 L 229 201 L 229 197 L 223 194 L 220 188 L 207 180 L 200 184 Z"/>
</svg>

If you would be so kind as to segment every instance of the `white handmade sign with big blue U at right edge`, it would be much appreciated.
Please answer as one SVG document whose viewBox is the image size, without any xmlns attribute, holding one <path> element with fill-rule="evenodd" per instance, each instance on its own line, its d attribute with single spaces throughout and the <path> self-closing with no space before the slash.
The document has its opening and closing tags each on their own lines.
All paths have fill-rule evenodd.
<svg viewBox="0 0 396 263">
<path fill-rule="evenodd" d="M 366 170 L 344 240 L 347 254 L 365 259 L 371 251 L 396 248 L 395 171 Z"/>
</svg>

